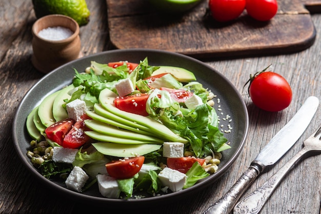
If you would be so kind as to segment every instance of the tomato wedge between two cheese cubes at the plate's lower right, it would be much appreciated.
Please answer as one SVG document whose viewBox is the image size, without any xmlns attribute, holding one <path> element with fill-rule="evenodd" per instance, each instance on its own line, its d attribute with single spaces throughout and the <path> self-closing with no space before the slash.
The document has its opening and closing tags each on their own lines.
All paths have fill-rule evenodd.
<svg viewBox="0 0 321 214">
<path fill-rule="evenodd" d="M 205 159 L 192 157 L 167 158 L 167 166 L 171 169 L 186 173 L 196 161 L 202 166 L 205 162 Z"/>
</svg>

